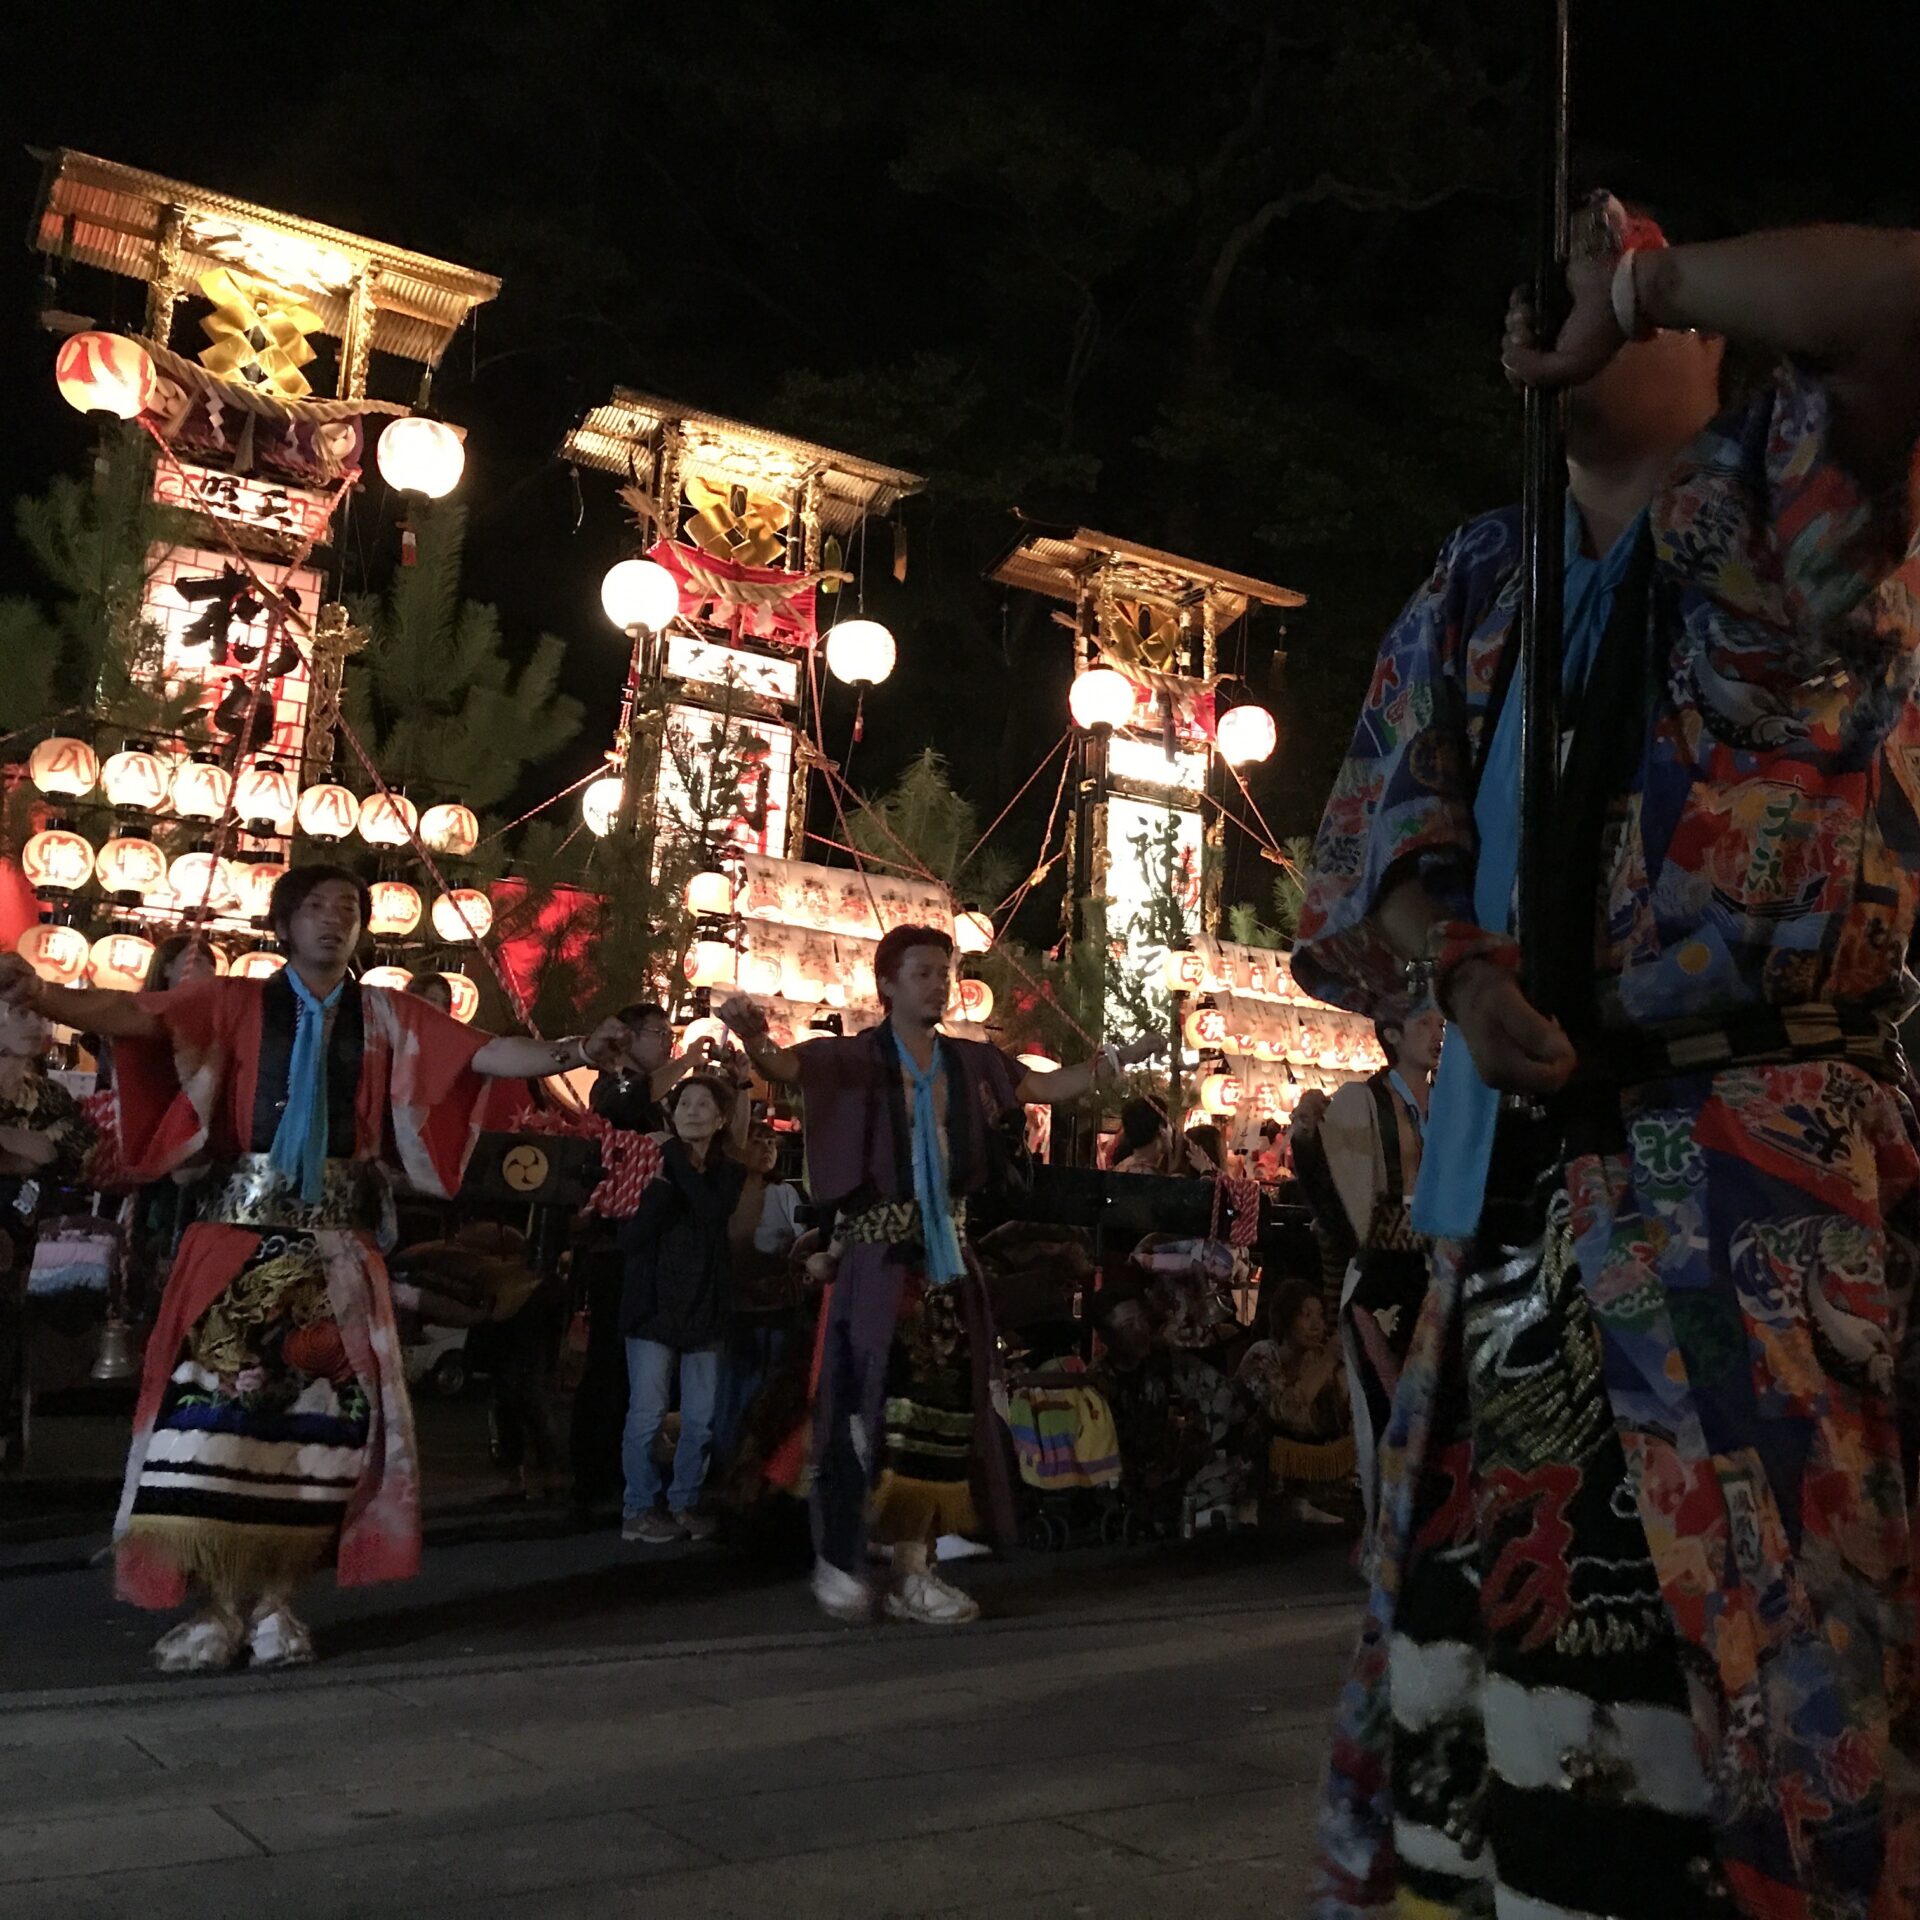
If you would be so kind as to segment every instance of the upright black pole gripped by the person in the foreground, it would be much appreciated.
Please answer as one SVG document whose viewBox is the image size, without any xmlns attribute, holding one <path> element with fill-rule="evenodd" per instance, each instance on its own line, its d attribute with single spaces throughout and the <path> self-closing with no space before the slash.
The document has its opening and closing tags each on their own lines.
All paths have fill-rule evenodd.
<svg viewBox="0 0 1920 1920">
<path fill-rule="evenodd" d="M 1571 0 L 1536 0 L 1540 50 L 1538 223 L 1532 298 L 1542 340 L 1551 340 L 1567 307 L 1569 246 L 1569 83 Z M 1567 513 L 1567 444 L 1559 394 L 1528 388 L 1524 403 L 1526 470 L 1521 493 L 1521 872 L 1515 933 L 1526 956 L 1528 996 L 1546 1012 L 1548 979 L 1542 943 L 1553 887 L 1553 810 L 1559 787 L 1561 593 Z"/>
</svg>

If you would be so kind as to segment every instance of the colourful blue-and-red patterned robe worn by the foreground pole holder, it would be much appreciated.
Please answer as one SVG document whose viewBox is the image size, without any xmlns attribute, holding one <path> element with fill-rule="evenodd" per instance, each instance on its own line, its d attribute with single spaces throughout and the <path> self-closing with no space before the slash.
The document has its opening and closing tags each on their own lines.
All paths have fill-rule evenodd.
<svg viewBox="0 0 1920 1920">
<path fill-rule="evenodd" d="M 1667 618 L 1599 841 L 1607 1029 L 1910 1004 L 1920 568 L 1907 503 L 1828 434 L 1788 369 L 1653 503 Z M 1308 991 L 1400 989 L 1367 914 L 1409 862 L 1471 918 L 1517 603 L 1496 513 L 1388 634 L 1319 831 Z M 1617 1089 L 1538 1240 L 1436 1248 L 1317 1920 L 1920 1912 L 1920 1160 L 1889 1073 L 1822 1052 Z"/>
</svg>

